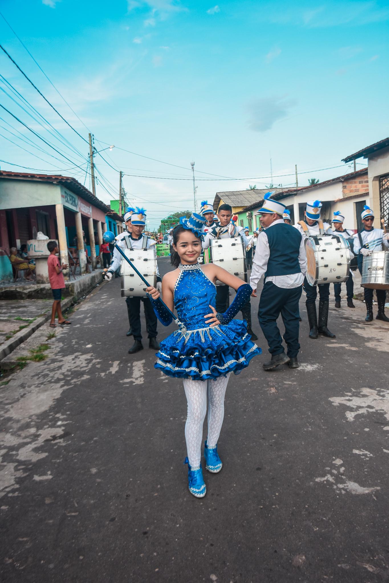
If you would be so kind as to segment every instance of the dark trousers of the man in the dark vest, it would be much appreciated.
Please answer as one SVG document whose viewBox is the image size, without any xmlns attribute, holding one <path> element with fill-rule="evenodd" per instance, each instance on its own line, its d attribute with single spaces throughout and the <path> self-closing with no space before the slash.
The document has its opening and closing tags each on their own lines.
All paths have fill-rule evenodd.
<svg viewBox="0 0 389 583">
<path fill-rule="evenodd" d="M 269 353 L 282 354 L 282 338 L 277 326 L 277 318 L 281 314 L 285 334 L 283 339 L 288 346 L 288 356 L 293 359 L 300 349 L 299 344 L 299 300 L 302 286 L 285 289 L 272 282 L 265 283 L 260 297 L 258 320 L 269 345 Z"/>
</svg>

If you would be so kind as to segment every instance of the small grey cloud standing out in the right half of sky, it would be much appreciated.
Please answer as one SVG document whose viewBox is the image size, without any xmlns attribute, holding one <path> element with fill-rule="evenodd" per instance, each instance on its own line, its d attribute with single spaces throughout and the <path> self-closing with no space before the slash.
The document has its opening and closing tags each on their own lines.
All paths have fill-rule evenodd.
<svg viewBox="0 0 389 583">
<path fill-rule="evenodd" d="M 247 107 L 250 113 L 248 128 L 254 132 L 266 132 L 276 121 L 287 117 L 290 108 L 296 104 L 295 99 L 287 99 L 287 96 L 254 99 Z"/>
</svg>

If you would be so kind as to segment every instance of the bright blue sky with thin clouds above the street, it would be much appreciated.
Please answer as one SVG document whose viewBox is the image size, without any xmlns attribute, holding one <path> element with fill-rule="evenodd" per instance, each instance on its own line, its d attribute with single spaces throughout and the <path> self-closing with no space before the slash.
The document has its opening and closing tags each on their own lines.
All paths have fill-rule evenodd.
<svg viewBox="0 0 389 583">
<path fill-rule="evenodd" d="M 124 185 L 129 199 L 145 206 L 152 227 L 173 210 L 192 208 L 192 160 L 197 201 L 212 202 L 218 191 L 244 189 L 249 183 L 258 188 L 268 185 L 270 156 L 274 185 L 293 185 L 294 177 L 287 174 L 294 174 L 295 164 L 302 173 L 299 185 L 307 184 L 310 177 L 323 181 L 344 174 L 348 166 L 317 169 L 338 166 L 347 154 L 389 133 L 388 2 L 213 2 L 2 0 L 0 4 L 3 16 L 93 132 L 97 150 L 115 145 L 103 156 L 127 174 Z M 1 17 L 0 35 L 20 68 L 87 138 L 86 127 Z M 40 141 L 3 110 L 0 117 L 5 121 L 0 120 L 0 125 L 19 138 L 3 128 L 0 134 L 43 160 L 0 136 L 1 159 L 61 171 L 83 182 L 86 143 L 4 54 L 0 71 L 79 150 L 80 154 L 62 147 L 81 169 L 65 171 L 72 164 L 50 147 L 41 143 L 60 161 L 21 142 L 13 128 L 35 143 Z M 2 82 L 0 87 L 5 88 Z M 0 93 L 0 103 L 61 146 Z M 359 163 L 357 168 L 362 168 L 363 159 Z M 117 196 L 117 170 L 99 156 L 96 165 L 109 181 L 106 187 L 112 191 L 114 187 Z M 17 169 L 6 163 L 1 168 Z M 105 202 L 110 199 L 101 184 L 97 194 Z"/>
</svg>

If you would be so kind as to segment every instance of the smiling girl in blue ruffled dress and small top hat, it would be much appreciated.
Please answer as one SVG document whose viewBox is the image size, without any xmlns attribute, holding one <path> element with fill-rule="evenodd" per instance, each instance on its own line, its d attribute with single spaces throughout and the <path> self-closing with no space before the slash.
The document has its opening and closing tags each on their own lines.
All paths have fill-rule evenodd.
<svg viewBox="0 0 389 583">
<path fill-rule="evenodd" d="M 205 441 L 205 468 L 212 473 L 222 469 L 218 439 L 224 417 L 224 398 L 230 373 L 239 374 L 261 349 L 247 333 L 245 320 L 234 315 L 251 296 L 252 289 L 242 280 L 214 264 L 200 265 L 203 217 L 193 214 L 181 218 L 173 232 L 173 265 L 177 269 L 162 280 L 163 301 L 173 311 L 176 307 L 181 328 L 160 343 L 155 368 L 169 377 L 182 378 L 188 401 L 185 440 L 188 456 L 188 482 L 191 494 L 202 498 L 206 486 L 201 470 L 202 427 L 208 398 L 208 437 Z M 215 306 L 219 280 L 237 293 L 223 314 Z M 171 315 L 159 300 L 159 291 L 148 287 L 157 318 L 164 326 Z"/>
</svg>

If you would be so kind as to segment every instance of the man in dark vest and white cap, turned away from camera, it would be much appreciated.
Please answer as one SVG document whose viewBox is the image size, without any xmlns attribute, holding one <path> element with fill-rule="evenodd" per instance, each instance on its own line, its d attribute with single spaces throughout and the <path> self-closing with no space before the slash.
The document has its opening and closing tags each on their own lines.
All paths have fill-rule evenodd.
<svg viewBox="0 0 389 583">
<path fill-rule="evenodd" d="M 258 236 L 250 278 L 252 295 L 256 297 L 258 281 L 262 275 L 265 276 L 258 319 L 268 341 L 271 360 L 263 367 L 272 370 L 288 363 L 289 368 L 298 368 L 299 300 L 307 270 L 304 238 L 297 229 L 283 222 L 285 205 L 266 196 L 264 205 L 258 211 L 261 213 L 261 226 L 266 231 Z M 286 354 L 277 326 L 280 314 L 285 326 L 283 339 L 288 346 Z"/>
</svg>

